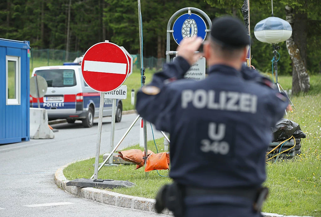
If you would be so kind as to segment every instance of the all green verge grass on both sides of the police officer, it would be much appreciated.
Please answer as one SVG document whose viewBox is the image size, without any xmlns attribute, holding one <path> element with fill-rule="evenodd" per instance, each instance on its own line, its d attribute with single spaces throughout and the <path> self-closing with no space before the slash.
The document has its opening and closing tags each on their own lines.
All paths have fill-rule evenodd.
<svg viewBox="0 0 321 217">
<path fill-rule="evenodd" d="M 291 88 L 290 76 L 279 78 L 285 90 Z M 296 110 L 286 117 L 299 123 L 307 138 L 301 140 L 301 155 L 291 160 L 280 159 L 275 163 L 271 161 L 267 165 L 267 179 L 264 185 L 270 188 L 270 194 L 263 206 L 263 212 L 321 216 L 321 76 L 312 75 L 310 78 L 311 90 L 309 93 L 292 97 Z M 161 149 L 163 139 L 156 142 Z M 148 147 L 156 151 L 153 141 L 148 142 Z M 131 148 L 139 146 L 127 149 Z M 93 174 L 93 163 L 94 159 L 74 163 L 64 170 L 65 177 L 90 178 Z M 150 172 L 149 177 L 145 178 L 143 168 L 134 168 L 134 165 L 105 167 L 99 173 L 99 178 L 132 181 L 136 184 L 135 187 L 113 191 L 147 198 L 154 198 L 158 189 L 171 181 L 169 178 L 160 177 L 156 171 Z M 168 171 L 160 171 L 160 174 L 167 175 Z"/>
</svg>

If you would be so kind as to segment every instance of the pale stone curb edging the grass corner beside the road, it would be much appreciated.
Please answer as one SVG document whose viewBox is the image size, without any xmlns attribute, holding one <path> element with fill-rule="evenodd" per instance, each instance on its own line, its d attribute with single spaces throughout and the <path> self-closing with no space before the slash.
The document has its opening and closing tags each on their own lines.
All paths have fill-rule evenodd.
<svg viewBox="0 0 321 217">
<path fill-rule="evenodd" d="M 66 186 L 66 183 L 69 180 L 66 179 L 63 171 L 68 165 L 72 163 L 69 163 L 57 169 L 55 173 L 56 185 L 62 188 L 65 192 L 76 195 L 81 198 L 97 201 L 108 205 L 156 213 L 156 210 L 154 208 L 154 204 L 156 201 L 154 199 L 123 195 L 116 192 L 100 190 L 92 187 Z M 165 210 L 163 214 L 171 215 L 172 213 L 169 210 Z M 294 215 L 285 216 L 285 215 L 279 215 L 276 213 L 262 213 L 262 215 L 263 217 L 300 217 L 300 216 L 294 216 Z M 311 216 L 302 216 L 302 217 L 311 217 Z"/>
</svg>

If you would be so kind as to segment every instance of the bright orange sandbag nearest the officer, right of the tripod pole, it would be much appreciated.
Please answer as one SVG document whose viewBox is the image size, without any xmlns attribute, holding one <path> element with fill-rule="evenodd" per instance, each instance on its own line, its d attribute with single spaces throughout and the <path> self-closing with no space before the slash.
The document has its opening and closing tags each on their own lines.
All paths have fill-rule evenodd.
<svg viewBox="0 0 321 217">
<path fill-rule="evenodd" d="M 169 169 L 166 155 L 166 152 L 149 155 L 145 165 L 145 172 L 156 169 Z"/>
</svg>

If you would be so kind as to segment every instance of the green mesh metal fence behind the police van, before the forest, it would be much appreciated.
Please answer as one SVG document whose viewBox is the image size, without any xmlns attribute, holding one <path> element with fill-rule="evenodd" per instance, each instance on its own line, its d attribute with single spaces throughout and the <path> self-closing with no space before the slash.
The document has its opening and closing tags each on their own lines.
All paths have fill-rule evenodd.
<svg viewBox="0 0 321 217">
<path fill-rule="evenodd" d="M 65 50 L 55 49 L 31 49 L 30 66 L 31 69 L 39 66 L 62 65 L 64 62 L 73 62 L 77 57 L 84 55 L 85 52 L 66 52 Z M 134 68 L 140 69 L 140 55 L 131 54 L 133 57 Z M 166 62 L 165 58 L 144 57 L 144 67 L 156 70 L 160 69 Z"/>
</svg>

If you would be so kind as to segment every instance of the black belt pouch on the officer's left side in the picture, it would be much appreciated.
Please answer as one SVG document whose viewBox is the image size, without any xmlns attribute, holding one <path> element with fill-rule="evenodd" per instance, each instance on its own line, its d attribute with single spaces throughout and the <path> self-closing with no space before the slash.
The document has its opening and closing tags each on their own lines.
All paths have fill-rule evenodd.
<svg viewBox="0 0 321 217">
<path fill-rule="evenodd" d="M 168 208 L 175 217 L 184 216 L 184 194 L 184 187 L 175 182 L 161 187 L 156 195 L 155 209 L 157 213 Z"/>
</svg>

